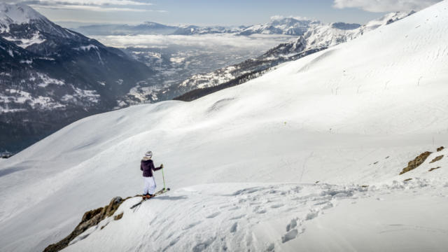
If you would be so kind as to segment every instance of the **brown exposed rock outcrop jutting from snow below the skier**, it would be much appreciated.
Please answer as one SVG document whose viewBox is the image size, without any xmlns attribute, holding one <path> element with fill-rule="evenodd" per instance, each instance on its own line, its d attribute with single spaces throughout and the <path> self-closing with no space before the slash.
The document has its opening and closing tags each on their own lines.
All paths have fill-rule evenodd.
<svg viewBox="0 0 448 252">
<path fill-rule="evenodd" d="M 85 212 L 81 222 L 76 226 L 75 230 L 73 230 L 70 235 L 61 241 L 46 247 L 44 252 L 56 252 L 64 249 L 66 246 L 69 246 L 70 241 L 82 234 L 85 230 L 93 227 L 94 225 L 98 225 L 98 223 L 103 221 L 106 217 L 112 216 L 123 202 L 124 200 L 121 197 L 114 197 L 109 205 Z M 123 217 L 123 213 L 120 215 Z"/>
</svg>

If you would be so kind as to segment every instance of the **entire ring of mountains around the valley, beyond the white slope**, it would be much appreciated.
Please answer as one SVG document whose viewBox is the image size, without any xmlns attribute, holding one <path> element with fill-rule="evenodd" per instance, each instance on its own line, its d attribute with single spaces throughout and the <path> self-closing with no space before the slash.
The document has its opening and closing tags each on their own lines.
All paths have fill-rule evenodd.
<svg viewBox="0 0 448 252">
<path fill-rule="evenodd" d="M 391 13 L 366 25 L 324 24 L 294 18 L 250 27 L 100 25 L 102 34 L 215 34 L 298 36 L 259 57 L 189 78 L 155 74 L 153 59 L 135 57 L 55 25 L 23 4 L 0 4 L 0 151 L 20 151 L 69 123 L 112 109 L 167 99 L 192 100 L 239 85 L 277 65 L 324 50 L 388 25 L 409 13 Z M 81 30 L 82 30 L 81 29 Z M 137 60 L 138 59 L 138 60 Z M 140 62 L 139 62 L 140 61 Z M 169 85 L 160 85 L 167 82 Z"/>
</svg>

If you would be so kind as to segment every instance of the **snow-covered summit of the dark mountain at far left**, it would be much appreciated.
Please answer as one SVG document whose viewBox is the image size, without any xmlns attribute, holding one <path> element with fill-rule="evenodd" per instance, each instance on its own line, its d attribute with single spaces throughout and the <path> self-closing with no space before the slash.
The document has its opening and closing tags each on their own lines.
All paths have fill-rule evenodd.
<svg viewBox="0 0 448 252">
<path fill-rule="evenodd" d="M 29 23 L 31 20 L 46 20 L 33 8 L 22 3 L 0 3 L 0 22 L 10 24 Z"/>
</svg>

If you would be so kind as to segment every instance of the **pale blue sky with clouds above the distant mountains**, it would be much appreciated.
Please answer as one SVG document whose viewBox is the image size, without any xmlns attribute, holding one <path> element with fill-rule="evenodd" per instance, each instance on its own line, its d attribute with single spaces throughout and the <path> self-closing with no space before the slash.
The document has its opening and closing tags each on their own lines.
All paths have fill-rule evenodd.
<svg viewBox="0 0 448 252">
<path fill-rule="evenodd" d="M 0 0 L 23 2 L 55 22 L 255 25 L 273 16 L 364 24 L 440 0 Z"/>
</svg>

